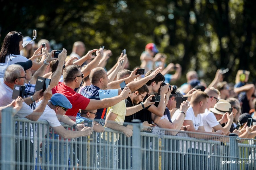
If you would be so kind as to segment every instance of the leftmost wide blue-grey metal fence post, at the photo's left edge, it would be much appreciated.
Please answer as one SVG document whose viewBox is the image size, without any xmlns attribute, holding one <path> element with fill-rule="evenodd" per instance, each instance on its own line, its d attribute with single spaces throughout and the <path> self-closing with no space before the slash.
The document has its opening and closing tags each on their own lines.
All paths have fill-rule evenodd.
<svg viewBox="0 0 256 170">
<path fill-rule="evenodd" d="M 1 122 L 1 169 L 14 169 L 13 109 L 2 110 Z"/>
</svg>

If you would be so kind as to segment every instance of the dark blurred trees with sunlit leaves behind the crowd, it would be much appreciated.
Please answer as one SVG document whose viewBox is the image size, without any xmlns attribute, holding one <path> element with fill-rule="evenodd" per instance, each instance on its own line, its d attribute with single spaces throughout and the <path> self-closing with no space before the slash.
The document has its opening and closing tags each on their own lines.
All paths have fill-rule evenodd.
<svg viewBox="0 0 256 170">
<path fill-rule="evenodd" d="M 182 79 L 196 70 L 208 84 L 219 68 L 230 68 L 225 79 L 234 82 L 238 69 L 251 71 L 255 81 L 256 1 L 253 0 L 1 0 L 1 38 L 13 30 L 37 41 L 51 41 L 53 49 L 75 41 L 86 51 L 104 45 L 113 57 L 127 50 L 130 69 L 140 65 L 145 45 L 154 42 L 168 62 L 182 66 Z M 36 41 L 36 42 L 37 42 Z"/>
</svg>

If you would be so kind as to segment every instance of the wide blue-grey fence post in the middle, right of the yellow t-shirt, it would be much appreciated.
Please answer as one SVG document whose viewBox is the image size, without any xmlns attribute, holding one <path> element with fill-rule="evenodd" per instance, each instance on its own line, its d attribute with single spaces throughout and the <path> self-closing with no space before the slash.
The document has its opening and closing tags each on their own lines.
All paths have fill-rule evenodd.
<svg viewBox="0 0 256 170">
<path fill-rule="evenodd" d="M 132 153 L 133 153 L 133 169 L 141 169 L 141 121 L 134 119 L 133 137 L 132 137 Z"/>
</svg>

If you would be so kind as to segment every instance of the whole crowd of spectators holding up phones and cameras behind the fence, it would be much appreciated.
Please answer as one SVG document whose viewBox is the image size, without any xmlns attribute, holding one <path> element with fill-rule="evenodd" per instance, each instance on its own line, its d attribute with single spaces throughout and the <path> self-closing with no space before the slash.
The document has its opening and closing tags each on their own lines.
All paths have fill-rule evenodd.
<svg viewBox="0 0 256 170">
<path fill-rule="evenodd" d="M 3 40 L 0 52 L 0 113 L 4 108 L 13 107 L 13 116 L 31 121 L 46 120 L 57 138 L 90 136 L 93 131 L 104 132 L 104 127 L 132 137 L 133 126 L 125 122 L 134 119 L 142 122 L 142 131 L 159 135 L 207 138 L 206 135 L 184 133 L 191 131 L 213 135 L 216 140 L 219 138 L 214 135 L 230 133 L 242 138 L 256 136 L 255 85 L 248 82 L 250 72 L 247 70 L 238 70 L 235 82 L 223 81 L 224 70 L 216 70 L 209 85 L 199 79 L 195 70 L 191 70 L 186 73 L 187 82 L 177 87 L 173 82 L 181 77 L 180 64 L 167 63 L 166 54 L 159 53 L 154 43 L 147 44 L 141 54 L 141 65 L 138 65 L 145 69 L 145 73 L 140 75 L 137 74 L 139 68 L 127 69 L 127 54 L 121 53 L 113 68 L 106 70 L 112 52 L 104 47 L 89 50 L 84 55 L 86 46 L 77 41 L 72 53 L 63 48 L 54 58 L 56 50 L 51 50 L 48 40 L 41 39 L 37 44 L 32 41 L 23 48 L 30 41 L 30 37 L 23 37 L 16 31 L 9 32 Z M 45 47 L 42 43 L 46 43 Z M 35 90 L 38 77 L 51 79 L 44 91 Z M 123 81 L 127 87 L 120 88 Z M 24 97 L 18 96 L 13 100 L 11 94 L 16 85 L 25 87 Z M 154 96 L 160 96 L 160 101 L 154 102 Z M 177 105 L 177 98 L 184 101 Z M 252 118 L 251 126 L 247 125 L 249 118 Z M 84 121 L 92 121 L 92 126 L 85 126 Z M 65 129 L 60 122 L 77 131 Z M 40 133 L 46 133 L 46 127 L 38 127 L 39 134 L 33 134 L 29 123 L 19 127 L 18 131 L 25 130 L 25 136 L 30 137 L 25 144 L 20 141 L 20 146 L 29 146 L 36 154 L 38 141 L 33 141 L 33 137 L 44 136 Z M 110 167 L 116 168 L 119 135 L 114 133 L 113 138 L 108 138 L 108 135 L 111 134 L 105 133 L 104 138 L 102 133 L 97 142 L 101 140 L 112 144 L 113 154 L 108 158 L 102 153 L 97 162 L 110 159 L 113 160 Z M 71 153 L 70 143 L 68 147 L 58 144 L 60 146 L 54 148 L 59 148 L 59 151 L 54 152 L 54 157 L 59 159 L 54 159 L 54 164 L 63 163 L 57 160 L 64 160 L 66 165 L 68 160 L 65 158 Z M 200 150 L 195 146 L 191 149 Z M 27 149 L 24 151 L 25 155 L 32 154 Z M 24 161 L 34 160 L 24 158 Z"/>
</svg>

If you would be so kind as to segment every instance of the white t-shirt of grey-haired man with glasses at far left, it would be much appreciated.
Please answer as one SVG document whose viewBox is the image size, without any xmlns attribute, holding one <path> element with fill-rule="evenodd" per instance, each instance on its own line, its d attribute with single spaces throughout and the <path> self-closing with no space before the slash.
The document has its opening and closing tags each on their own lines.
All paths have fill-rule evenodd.
<svg viewBox="0 0 256 170">
<path fill-rule="evenodd" d="M 7 86 L 3 78 L 0 78 L 0 106 L 7 106 L 10 104 L 12 99 L 13 89 Z M 24 118 L 30 114 L 32 114 L 33 110 L 25 103 L 22 103 L 22 108 L 16 113 L 16 116 L 20 118 Z"/>
</svg>

